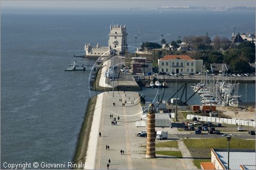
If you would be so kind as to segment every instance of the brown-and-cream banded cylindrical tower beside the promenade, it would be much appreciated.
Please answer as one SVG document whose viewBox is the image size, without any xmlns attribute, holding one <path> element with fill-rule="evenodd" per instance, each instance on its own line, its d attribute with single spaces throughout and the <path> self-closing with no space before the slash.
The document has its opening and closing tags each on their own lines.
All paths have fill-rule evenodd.
<svg viewBox="0 0 256 170">
<path fill-rule="evenodd" d="M 146 158 L 156 157 L 155 113 L 147 113 Z"/>
</svg>

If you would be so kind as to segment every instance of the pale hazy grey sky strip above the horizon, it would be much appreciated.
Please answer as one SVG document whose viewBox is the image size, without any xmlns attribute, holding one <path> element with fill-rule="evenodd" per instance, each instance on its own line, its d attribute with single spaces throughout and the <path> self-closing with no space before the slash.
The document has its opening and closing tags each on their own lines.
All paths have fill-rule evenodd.
<svg viewBox="0 0 256 170">
<path fill-rule="evenodd" d="M 10 1 L 2 0 L 1 8 L 58 8 L 58 9 L 74 9 L 74 8 L 84 8 L 84 9 L 110 9 L 110 8 L 158 8 L 162 6 L 256 6 L 255 0 L 180 0 L 180 1 Z"/>
</svg>

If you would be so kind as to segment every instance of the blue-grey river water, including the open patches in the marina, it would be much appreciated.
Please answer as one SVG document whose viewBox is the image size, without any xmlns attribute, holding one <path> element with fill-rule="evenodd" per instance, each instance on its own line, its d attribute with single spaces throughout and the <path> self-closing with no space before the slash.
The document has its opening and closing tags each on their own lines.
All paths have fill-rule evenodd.
<svg viewBox="0 0 256 170">
<path fill-rule="evenodd" d="M 234 27 L 240 32 L 255 30 L 254 12 L 2 11 L 1 168 L 4 162 L 72 161 L 90 99 L 90 73 L 64 69 L 73 54 L 83 54 L 86 42 L 106 45 L 113 20 L 126 24 L 128 44 L 133 46 L 138 26 L 140 43 L 159 42 L 161 34 L 171 41 L 178 35 L 206 32 L 211 37 L 230 36 Z M 163 100 L 174 94 L 175 84 L 169 86 Z M 248 84 L 247 91 L 247 102 L 255 101 L 255 84 Z M 163 92 L 140 93 L 151 100 Z M 243 84 L 240 93 L 245 93 Z M 189 104 L 198 101 L 195 95 Z"/>
</svg>

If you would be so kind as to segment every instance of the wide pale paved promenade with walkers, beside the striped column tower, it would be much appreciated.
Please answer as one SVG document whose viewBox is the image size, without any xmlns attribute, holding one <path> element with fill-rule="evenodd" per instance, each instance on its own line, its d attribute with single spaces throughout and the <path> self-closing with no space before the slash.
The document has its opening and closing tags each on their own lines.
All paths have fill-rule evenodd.
<svg viewBox="0 0 256 170">
<path fill-rule="evenodd" d="M 155 159 L 145 158 L 146 138 L 137 137 L 137 133 L 146 130 L 145 127 L 136 127 L 140 121 L 142 109 L 137 92 L 103 92 L 97 101 L 102 106 L 94 113 L 94 120 L 86 162 L 87 169 L 106 169 L 108 160 L 111 160 L 110 169 L 191 169 L 191 160 L 186 163 L 183 158 L 156 155 Z M 130 98 L 130 100 L 129 100 Z M 122 102 L 119 100 L 122 99 Z M 122 103 L 126 100 L 125 106 Z M 134 104 L 131 104 L 134 101 Z M 115 106 L 113 106 L 115 103 Z M 99 116 L 99 114 L 101 114 Z M 112 118 L 119 116 L 117 125 L 112 125 Z M 99 119 L 100 118 L 100 119 Z M 101 137 L 99 137 L 101 132 Z M 92 138 L 91 138 L 92 137 Z M 106 150 L 105 146 L 110 149 Z M 124 155 L 120 154 L 124 150 Z M 188 158 L 189 159 L 189 158 Z"/>
</svg>

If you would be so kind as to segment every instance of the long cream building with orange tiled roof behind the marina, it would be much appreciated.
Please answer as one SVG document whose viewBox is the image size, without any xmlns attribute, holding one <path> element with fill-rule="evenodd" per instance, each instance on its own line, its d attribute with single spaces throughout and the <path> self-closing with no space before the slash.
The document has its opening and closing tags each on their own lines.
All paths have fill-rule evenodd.
<svg viewBox="0 0 256 170">
<path fill-rule="evenodd" d="M 201 71 L 203 60 L 195 60 L 187 55 L 166 55 L 158 59 L 158 72 L 190 74 Z"/>
</svg>

